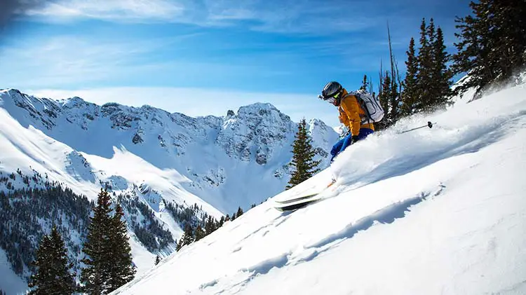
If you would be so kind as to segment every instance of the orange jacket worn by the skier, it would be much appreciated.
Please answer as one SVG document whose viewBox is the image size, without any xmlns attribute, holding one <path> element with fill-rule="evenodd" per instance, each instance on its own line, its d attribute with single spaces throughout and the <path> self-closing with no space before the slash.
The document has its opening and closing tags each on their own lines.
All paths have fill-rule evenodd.
<svg viewBox="0 0 526 295">
<path fill-rule="evenodd" d="M 339 121 L 349 128 L 352 135 L 358 135 L 360 128 L 375 130 L 375 125 L 372 125 L 372 123 L 362 124 L 362 119 L 366 118 L 367 115 L 360 107 L 360 104 L 358 104 L 356 97 L 349 95 L 349 92 L 345 89 L 342 97 L 342 102 L 338 106 Z"/>
</svg>

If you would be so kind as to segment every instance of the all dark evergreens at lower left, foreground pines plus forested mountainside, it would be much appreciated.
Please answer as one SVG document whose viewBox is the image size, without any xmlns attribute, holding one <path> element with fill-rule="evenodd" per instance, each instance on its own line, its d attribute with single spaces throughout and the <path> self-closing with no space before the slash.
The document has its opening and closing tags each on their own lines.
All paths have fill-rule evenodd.
<svg viewBox="0 0 526 295">
<path fill-rule="evenodd" d="M 5 175 L 0 172 L 0 183 L 6 187 L 12 184 L 7 192 L 0 191 L 0 247 L 6 250 L 15 273 L 29 272 L 29 294 L 107 294 L 133 280 L 136 270 L 126 220 L 150 252 L 172 244 L 179 251 L 243 214 L 238 207 L 231 217 L 227 214 L 217 221 L 197 205 L 184 207 L 163 200 L 175 221 L 185 228 L 177 242 L 137 196 L 113 193 L 112 202 L 105 186 L 95 203 L 70 188 L 47 181 L 47 177 L 43 180 L 38 173 L 27 177 L 17 170 Z M 27 187 L 15 188 L 20 182 Z M 49 233 L 43 233 L 39 220 L 46 225 L 53 221 Z M 35 238 L 39 239 L 37 247 Z M 160 260 L 158 255 L 156 264 Z"/>
</svg>

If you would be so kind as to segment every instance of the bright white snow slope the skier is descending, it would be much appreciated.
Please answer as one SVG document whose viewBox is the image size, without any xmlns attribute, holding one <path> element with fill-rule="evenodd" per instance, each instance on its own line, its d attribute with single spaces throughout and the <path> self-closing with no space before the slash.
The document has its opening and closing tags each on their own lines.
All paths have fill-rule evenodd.
<svg viewBox="0 0 526 295">
<path fill-rule="evenodd" d="M 436 122 L 433 129 L 398 134 Z M 113 294 L 526 294 L 526 89 L 414 116 Z"/>
</svg>

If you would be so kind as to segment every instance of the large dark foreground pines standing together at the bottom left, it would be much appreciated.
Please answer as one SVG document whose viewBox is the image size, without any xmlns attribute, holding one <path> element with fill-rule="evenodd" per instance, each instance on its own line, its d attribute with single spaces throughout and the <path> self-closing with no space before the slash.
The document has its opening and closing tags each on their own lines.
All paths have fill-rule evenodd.
<svg viewBox="0 0 526 295">
<path fill-rule="evenodd" d="M 119 203 L 112 206 L 106 190 L 97 196 L 97 204 L 88 224 L 83 242 L 80 284 L 76 283 L 73 264 L 69 262 L 62 235 L 53 225 L 44 235 L 32 261 L 34 273 L 28 286 L 29 294 L 108 294 L 135 277 L 126 221 Z M 114 207 L 114 208 L 112 208 Z"/>
</svg>

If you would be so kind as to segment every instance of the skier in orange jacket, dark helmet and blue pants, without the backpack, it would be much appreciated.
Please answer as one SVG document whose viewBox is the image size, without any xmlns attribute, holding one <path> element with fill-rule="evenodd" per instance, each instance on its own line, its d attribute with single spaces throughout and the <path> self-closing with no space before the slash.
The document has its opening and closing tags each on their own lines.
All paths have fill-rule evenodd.
<svg viewBox="0 0 526 295">
<path fill-rule="evenodd" d="M 349 94 L 340 83 L 335 81 L 327 83 L 318 97 L 337 107 L 340 123 L 349 128 L 347 134 L 332 146 L 330 151 L 332 155 L 330 162 L 332 163 L 347 146 L 375 132 L 375 126 L 368 120 L 367 113 L 358 103 L 356 96 Z"/>
</svg>

